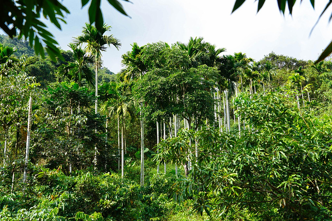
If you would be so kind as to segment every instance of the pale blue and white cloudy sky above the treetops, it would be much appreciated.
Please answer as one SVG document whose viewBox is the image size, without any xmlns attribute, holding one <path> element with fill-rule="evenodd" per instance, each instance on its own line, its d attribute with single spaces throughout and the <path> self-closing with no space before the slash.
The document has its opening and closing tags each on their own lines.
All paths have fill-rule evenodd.
<svg viewBox="0 0 332 221">
<path fill-rule="evenodd" d="M 112 26 L 111 32 L 122 43 L 120 50 L 113 46 L 103 53 L 103 65 L 117 73 L 121 55 L 139 46 L 157 41 L 169 44 L 188 42 L 190 37 L 203 37 L 219 48 L 221 55 L 243 52 L 247 57 L 261 60 L 270 52 L 301 60 L 316 60 L 332 39 L 332 24 L 328 22 L 331 9 L 321 18 L 310 36 L 310 30 L 329 0 L 297 0 L 293 15 L 280 13 L 277 0 L 266 0 L 257 13 L 257 2 L 246 0 L 234 13 L 235 0 L 131 0 L 120 1 L 131 18 L 117 12 L 107 0 L 102 0 L 104 21 Z M 62 30 L 50 26 L 64 50 L 73 37 L 82 33 L 88 21 L 88 7 L 81 8 L 80 0 L 66 0 L 63 4 L 71 12 Z"/>
</svg>

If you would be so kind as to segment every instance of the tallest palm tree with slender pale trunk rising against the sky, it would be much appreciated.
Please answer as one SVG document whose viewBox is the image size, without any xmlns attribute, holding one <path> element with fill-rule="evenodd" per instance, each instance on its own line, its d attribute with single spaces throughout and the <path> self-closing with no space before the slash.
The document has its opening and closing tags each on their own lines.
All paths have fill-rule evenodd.
<svg viewBox="0 0 332 221">
<path fill-rule="evenodd" d="M 107 46 L 111 47 L 113 45 L 116 49 L 119 49 L 121 46 L 120 40 L 113 37 L 113 35 L 106 36 L 105 32 L 110 31 L 111 26 L 106 24 L 103 25 L 101 30 L 97 30 L 97 28 L 89 23 L 85 23 L 85 27 L 83 27 L 83 34 L 74 39 L 76 44 L 86 43 L 85 49 L 89 52 L 89 54 L 94 55 L 95 57 L 95 113 L 98 113 L 98 68 L 102 64 L 101 56 L 102 52 L 106 51 Z M 106 46 L 107 45 L 107 46 Z"/>
</svg>

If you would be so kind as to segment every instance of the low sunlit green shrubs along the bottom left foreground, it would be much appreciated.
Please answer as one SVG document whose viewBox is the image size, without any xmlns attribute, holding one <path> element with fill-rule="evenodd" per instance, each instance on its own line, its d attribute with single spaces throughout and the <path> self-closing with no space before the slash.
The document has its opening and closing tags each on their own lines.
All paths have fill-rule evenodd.
<svg viewBox="0 0 332 221">
<path fill-rule="evenodd" d="M 168 189 L 175 177 L 152 176 L 146 187 L 117 174 L 79 172 L 66 176 L 59 169 L 34 167 L 24 195 L 0 192 L 0 221 L 28 218 L 46 221 L 132 221 L 168 216 L 177 204 Z"/>
</svg>

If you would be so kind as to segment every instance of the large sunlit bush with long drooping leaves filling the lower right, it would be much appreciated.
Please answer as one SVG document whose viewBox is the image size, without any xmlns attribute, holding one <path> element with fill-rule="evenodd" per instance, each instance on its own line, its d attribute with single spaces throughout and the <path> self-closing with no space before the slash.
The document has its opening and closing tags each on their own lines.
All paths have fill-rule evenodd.
<svg viewBox="0 0 332 221">
<path fill-rule="evenodd" d="M 217 209 L 224 219 L 247 211 L 258 220 L 329 220 L 331 118 L 312 119 L 288 100 L 281 92 L 239 97 L 249 128 L 241 137 L 205 128 L 160 144 L 168 148 L 158 161 L 174 161 L 179 148 L 194 152 L 185 140 L 199 141 L 192 177 L 175 185 L 177 199 L 193 196 L 199 213 Z"/>
</svg>

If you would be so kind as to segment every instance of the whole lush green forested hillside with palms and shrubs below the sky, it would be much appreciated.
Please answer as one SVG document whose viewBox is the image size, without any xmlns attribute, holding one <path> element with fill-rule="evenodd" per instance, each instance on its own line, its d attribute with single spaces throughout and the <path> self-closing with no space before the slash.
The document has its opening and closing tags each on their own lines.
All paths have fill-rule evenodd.
<svg viewBox="0 0 332 221">
<path fill-rule="evenodd" d="M 190 38 L 114 74 L 105 32 L 56 62 L 0 36 L 0 221 L 332 220 L 330 60 Z"/>
</svg>

